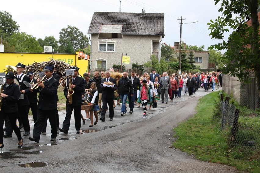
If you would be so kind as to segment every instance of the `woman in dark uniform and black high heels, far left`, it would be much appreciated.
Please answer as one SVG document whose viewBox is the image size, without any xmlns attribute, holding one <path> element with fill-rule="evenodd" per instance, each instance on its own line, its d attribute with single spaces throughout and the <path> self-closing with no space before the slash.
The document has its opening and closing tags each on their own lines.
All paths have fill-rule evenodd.
<svg viewBox="0 0 260 173">
<path fill-rule="evenodd" d="M 18 138 L 18 147 L 23 147 L 23 138 L 21 137 L 21 132 L 18 126 L 16 125 L 16 119 L 18 115 L 18 99 L 20 97 L 20 87 L 13 83 L 14 75 L 13 72 L 8 72 L 5 75 L 6 83 L 1 87 L 0 91 L 1 97 L 1 111 L 0 111 L 0 148 L 4 147 L 3 144 L 3 126 L 5 117 L 9 117 L 10 125 L 12 126 L 17 138 Z"/>
</svg>

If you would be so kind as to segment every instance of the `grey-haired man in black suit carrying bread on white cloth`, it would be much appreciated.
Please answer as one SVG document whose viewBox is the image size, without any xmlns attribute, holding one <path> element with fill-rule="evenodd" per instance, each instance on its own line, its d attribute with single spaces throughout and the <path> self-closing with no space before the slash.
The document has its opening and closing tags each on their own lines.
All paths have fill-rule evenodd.
<svg viewBox="0 0 260 173">
<path fill-rule="evenodd" d="M 105 121 L 106 108 L 108 103 L 109 118 L 110 121 L 112 121 L 114 118 L 114 108 L 113 108 L 114 97 L 115 97 L 114 91 L 117 90 L 117 84 L 116 84 L 116 79 L 110 77 L 110 71 L 107 70 L 105 72 L 105 75 L 106 77 L 101 79 L 101 84 L 100 84 L 100 89 L 102 90 L 103 106 L 101 111 L 101 118 L 99 118 L 99 120 Z M 108 81 L 114 83 L 114 87 L 107 87 L 102 85 L 104 82 L 108 82 Z"/>
</svg>

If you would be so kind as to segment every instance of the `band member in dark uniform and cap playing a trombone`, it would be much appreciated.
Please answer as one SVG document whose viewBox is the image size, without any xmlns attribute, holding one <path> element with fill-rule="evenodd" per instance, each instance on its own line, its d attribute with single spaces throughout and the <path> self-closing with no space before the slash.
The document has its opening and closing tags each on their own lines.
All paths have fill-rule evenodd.
<svg viewBox="0 0 260 173">
<path fill-rule="evenodd" d="M 45 122 L 46 116 L 49 118 L 49 122 L 51 125 L 51 141 L 56 140 L 57 137 L 57 125 L 56 125 L 56 94 L 59 86 L 59 81 L 53 78 L 53 67 L 47 65 L 44 68 L 44 73 L 46 76 L 45 82 L 41 83 L 39 82 L 40 79 L 37 79 L 38 82 L 38 89 L 36 89 L 36 92 L 40 92 L 39 94 L 39 102 L 37 105 L 37 120 L 34 124 L 33 128 L 33 137 L 29 137 L 31 141 L 39 142 L 40 141 L 40 135 L 42 132 L 42 127 Z"/>
</svg>

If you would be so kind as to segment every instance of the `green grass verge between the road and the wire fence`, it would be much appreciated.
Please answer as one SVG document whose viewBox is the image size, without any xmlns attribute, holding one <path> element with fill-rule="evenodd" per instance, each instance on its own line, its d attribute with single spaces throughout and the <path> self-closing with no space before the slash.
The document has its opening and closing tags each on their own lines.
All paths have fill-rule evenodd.
<svg viewBox="0 0 260 173">
<path fill-rule="evenodd" d="M 200 103 L 196 106 L 197 113 L 174 129 L 176 140 L 172 144 L 173 147 L 193 154 L 202 161 L 232 165 L 249 172 L 260 172 L 259 149 L 229 148 L 229 132 L 220 130 L 220 119 L 213 118 L 218 99 L 218 92 L 212 92 L 199 100 Z M 243 122 L 244 119 L 241 120 Z M 251 125 L 252 122 L 244 124 Z"/>
</svg>

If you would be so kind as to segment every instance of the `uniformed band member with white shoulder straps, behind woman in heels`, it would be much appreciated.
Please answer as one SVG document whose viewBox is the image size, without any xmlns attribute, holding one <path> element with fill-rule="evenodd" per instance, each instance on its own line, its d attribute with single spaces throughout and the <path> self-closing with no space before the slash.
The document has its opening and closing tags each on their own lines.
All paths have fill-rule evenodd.
<svg viewBox="0 0 260 173">
<path fill-rule="evenodd" d="M 23 81 L 30 82 L 30 78 L 27 75 L 23 74 L 25 65 L 19 62 L 15 67 L 17 72 L 15 77 L 17 77 L 17 79 L 20 81 L 20 93 L 21 93 L 18 101 L 18 112 L 23 122 L 23 129 L 25 131 L 23 136 L 28 136 L 30 134 L 30 124 L 29 124 L 29 119 L 27 114 L 27 105 L 30 105 L 28 100 L 28 93 L 31 91 L 29 90 L 29 87 L 27 87 L 23 83 Z M 11 136 L 13 134 L 13 129 L 9 123 L 7 124 L 5 133 Z"/>
</svg>

